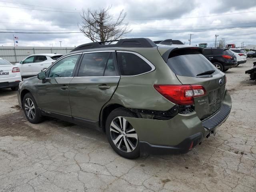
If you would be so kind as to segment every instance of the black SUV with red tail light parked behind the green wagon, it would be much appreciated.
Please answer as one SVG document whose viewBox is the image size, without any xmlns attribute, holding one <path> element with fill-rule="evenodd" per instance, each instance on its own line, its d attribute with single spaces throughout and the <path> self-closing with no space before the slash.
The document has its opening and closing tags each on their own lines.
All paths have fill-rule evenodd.
<svg viewBox="0 0 256 192">
<path fill-rule="evenodd" d="M 237 66 L 236 56 L 229 48 L 204 48 L 204 56 L 220 71 Z"/>
</svg>

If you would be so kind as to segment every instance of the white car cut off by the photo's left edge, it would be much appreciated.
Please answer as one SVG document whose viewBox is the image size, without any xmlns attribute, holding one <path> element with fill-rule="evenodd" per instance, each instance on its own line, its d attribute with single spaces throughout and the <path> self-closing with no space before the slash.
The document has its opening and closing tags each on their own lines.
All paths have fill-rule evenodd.
<svg viewBox="0 0 256 192">
<path fill-rule="evenodd" d="M 0 88 L 18 90 L 21 81 L 20 69 L 0 58 Z"/>
</svg>

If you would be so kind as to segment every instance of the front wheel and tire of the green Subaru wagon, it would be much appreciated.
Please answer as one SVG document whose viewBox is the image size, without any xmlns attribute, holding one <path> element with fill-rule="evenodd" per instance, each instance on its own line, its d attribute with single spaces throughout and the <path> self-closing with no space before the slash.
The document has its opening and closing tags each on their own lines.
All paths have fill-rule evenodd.
<svg viewBox="0 0 256 192">
<path fill-rule="evenodd" d="M 22 101 L 23 110 L 26 118 L 30 123 L 37 124 L 43 120 L 40 116 L 40 110 L 36 104 L 36 100 L 31 93 L 27 93 Z"/>
</svg>

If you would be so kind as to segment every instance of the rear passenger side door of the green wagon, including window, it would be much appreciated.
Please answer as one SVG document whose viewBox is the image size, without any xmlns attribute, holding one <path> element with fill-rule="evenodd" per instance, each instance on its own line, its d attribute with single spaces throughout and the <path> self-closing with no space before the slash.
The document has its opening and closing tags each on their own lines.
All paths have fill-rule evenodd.
<svg viewBox="0 0 256 192">
<path fill-rule="evenodd" d="M 83 55 L 70 82 L 70 106 L 76 120 L 98 122 L 102 106 L 116 90 L 120 75 L 114 51 Z"/>
</svg>

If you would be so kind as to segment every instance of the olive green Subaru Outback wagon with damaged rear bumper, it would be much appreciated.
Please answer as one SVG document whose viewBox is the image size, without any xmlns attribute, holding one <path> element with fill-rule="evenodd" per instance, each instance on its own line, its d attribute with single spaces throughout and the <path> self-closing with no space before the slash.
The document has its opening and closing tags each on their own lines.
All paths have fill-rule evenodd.
<svg viewBox="0 0 256 192">
<path fill-rule="evenodd" d="M 231 110 L 225 74 L 203 48 L 147 38 L 76 47 L 20 83 L 26 118 L 96 128 L 125 158 L 184 153 L 216 133 Z"/>
</svg>

